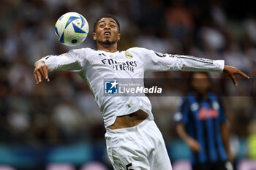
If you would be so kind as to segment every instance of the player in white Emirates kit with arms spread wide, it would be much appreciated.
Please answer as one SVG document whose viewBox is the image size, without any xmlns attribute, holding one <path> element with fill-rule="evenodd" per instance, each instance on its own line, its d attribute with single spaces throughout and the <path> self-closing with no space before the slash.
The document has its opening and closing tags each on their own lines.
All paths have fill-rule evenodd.
<svg viewBox="0 0 256 170">
<path fill-rule="evenodd" d="M 62 55 L 48 55 L 35 63 L 37 84 L 48 72 L 77 72 L 89 85 L 105 123 L 108 157 L 114 169 L 170 170 L 170 159 L 151 112 L 146 96 L 108 96 L 104 79 L 143 79 L 145 72 L 207 71 L 227 72 L 236 85 L 238 69 L 213 61 L 186 55 L 156 53 L 140 47 L 118 51 L 121 38 L 118 20 L 105 15 L 94 24 L 97 50 L 81 48 Z M 114 84 L 113 84 L 114 85 Z"/>
</svg>

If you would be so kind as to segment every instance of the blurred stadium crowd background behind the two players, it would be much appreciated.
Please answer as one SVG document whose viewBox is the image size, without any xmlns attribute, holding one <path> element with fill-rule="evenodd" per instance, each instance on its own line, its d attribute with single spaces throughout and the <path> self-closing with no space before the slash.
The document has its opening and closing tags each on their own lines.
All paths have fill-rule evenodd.
<svg viewBox="0 0 256 170">
<path fill-rule="evenodd" d="M 212 76 L 225 101 L 235 168 L 244 160 L 256 159 L 256 18 L 249 1 L 1 0 L 0 165 L 50 169 L 50 164 L 67 163 L 66 167 L 90 169 L 88 164 L 94 162 L 91 169 L 97 163 L 111 169 L 105 155 L 102 116 L 86 83 L 67 72 L 50 74 L 50 83 L 34 83 L 35 61 L 72 49 L 61 45 L 54 35 L 56 20 L 70 11 L 85 16 L 91 28 L 78 47 L 96 49 L 91 37 L 94 20 L 110 13 L 121 23 L 119 50 L 138 46 L 160 53 L 225 59 L 226 64 L 248 74 L 254 87 L 243 84 L 239 90 L 221 74 Z M 159 72 L 146 77 L 186 75 Z M 174 165 L 189 158 L 173 123 L 178 96 L 184 90 L 165 88 L 170 97 L 150 99 Z"/>
</svg>

